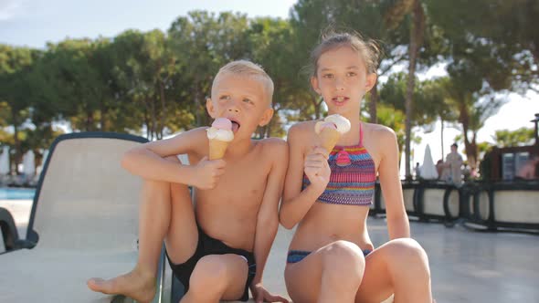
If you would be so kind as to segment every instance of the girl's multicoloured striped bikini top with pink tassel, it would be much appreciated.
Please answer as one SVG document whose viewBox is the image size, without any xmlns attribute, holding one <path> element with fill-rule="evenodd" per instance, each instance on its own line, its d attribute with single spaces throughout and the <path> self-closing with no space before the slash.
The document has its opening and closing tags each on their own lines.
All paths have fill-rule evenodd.
<svg viewBox="0 0 539 303">
<path fill-rule="evenodd" d="M 325 191 L 318 198 L 327 204 L 370 205 L 375 195 L 375 162 L 363 146 L 363 129 L 359 126 L 359 144 L 335 146 L 328 159 L 332 174 Z M 309 185 L 303 173 L 302 188 Z"/>
</svg>

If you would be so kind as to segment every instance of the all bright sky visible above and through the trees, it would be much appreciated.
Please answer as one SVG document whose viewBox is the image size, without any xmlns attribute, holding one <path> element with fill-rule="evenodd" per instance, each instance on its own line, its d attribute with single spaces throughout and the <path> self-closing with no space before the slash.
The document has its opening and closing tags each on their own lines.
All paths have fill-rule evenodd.
<svg viewBox="0 0 539 303">
<path fill-rule="evenodd" d="M 58 42 L 66 37 L 114 37 L 129 28 L 142 31 L 160 28 L 167 30 L 177 16 L 193 10 L 211 12 L 233 11 L 254 16 L 287 18 L 295 0 L 0 0 L 0 43 L 43 48 L 48 41 Z M 431 68 L 419 78 L 439 77 L 445 74 L 443 65 Z M 486 121 L 478 141 L 492 141 L 494 131 L 533 127 L 530 120 L 539 113 L 539 95 L 529 92 L 524 96 L 502 94 L 507 99 L 498 114 Z M 415 162 L 423 162 L 428 144 L 432 159 L 441 158 L 440 127 L 429 133 L 420 133 L 422 141 L 414 144 Z M 445 130 L 444 152 L 460 131 Z M 463 147 L 460 148 L 463 150 Z"/>
</svg>

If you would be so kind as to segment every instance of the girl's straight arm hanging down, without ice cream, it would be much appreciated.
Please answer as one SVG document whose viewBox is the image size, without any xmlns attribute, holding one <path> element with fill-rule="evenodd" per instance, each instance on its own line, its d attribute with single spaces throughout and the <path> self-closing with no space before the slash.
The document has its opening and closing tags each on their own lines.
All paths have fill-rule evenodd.
<svg viewBox="0 0 539 303">
<path fill-rule="evenodd" d="M 398 176 L 398 145 L 394 131 L 384 128 L 377 131 L 379 146 L 384 148 L 378 174 L 380 187 L 386 201 L 387 232 L 390 239 L 409 237 L 410 225 Z"/>
</svg>

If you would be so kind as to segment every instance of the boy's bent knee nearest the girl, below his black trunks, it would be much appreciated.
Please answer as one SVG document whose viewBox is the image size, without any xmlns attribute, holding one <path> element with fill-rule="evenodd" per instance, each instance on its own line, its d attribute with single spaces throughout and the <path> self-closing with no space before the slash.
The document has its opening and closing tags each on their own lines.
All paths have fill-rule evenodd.
<svg viewBox="0 0 539 303">
<path fill-rule="evenodd" d="M 189 279 L 189 291 L 182 303 L 217 302 L 241 298 L 248 279 L 248 263 L 243 256 L 208 255 L 198 260 Z"/>
</svg>

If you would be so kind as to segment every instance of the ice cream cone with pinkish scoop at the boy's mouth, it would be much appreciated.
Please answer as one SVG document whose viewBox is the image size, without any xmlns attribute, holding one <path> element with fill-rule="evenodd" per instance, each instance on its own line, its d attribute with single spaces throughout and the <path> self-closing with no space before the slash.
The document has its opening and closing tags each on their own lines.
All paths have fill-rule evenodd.
<svg viewBox="0 0 539 303">
<path fill-rule="evenodd" d="M 232 122 L 227 118 L 217 118 L 206 131 L 209 140 L 209 160 L 222 159 L 228 143 L 234 140 Z"/>
</svg>

